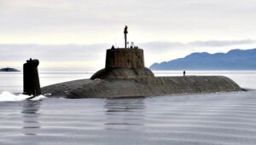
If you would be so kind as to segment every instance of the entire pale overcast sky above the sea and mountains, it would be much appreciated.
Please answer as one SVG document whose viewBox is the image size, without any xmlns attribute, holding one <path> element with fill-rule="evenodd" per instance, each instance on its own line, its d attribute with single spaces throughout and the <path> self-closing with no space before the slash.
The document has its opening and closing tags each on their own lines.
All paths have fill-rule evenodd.
<svg viewBox="0 0 256 145">
<path fill-rule="evenodd" d="M 97 70 L 128 41 L 145 64 L 256 48 L 255 0 L 0 0 L 0 67 Z"/>
</svg>

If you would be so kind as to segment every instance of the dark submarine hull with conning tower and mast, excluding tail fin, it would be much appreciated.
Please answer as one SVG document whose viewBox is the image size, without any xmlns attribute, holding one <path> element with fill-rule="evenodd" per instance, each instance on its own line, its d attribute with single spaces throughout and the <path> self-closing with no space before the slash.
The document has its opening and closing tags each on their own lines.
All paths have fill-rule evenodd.
<svg viewBox="0 0 256 145">
<path fill-rule="evenodd" d="M 42 94 L 48 97 L 113 98 L 241 91 L 238 84 L 224 76 L 154 77 L 154 73 L 144 66 L 143 49 L 132 45 L 127 48 L 127 29 L 125 26 L 125 48 L 107 49 L 105 68 L 90 79 L 45 86 L 41 88 Z"/>
</svg>

